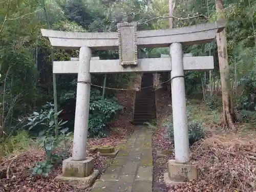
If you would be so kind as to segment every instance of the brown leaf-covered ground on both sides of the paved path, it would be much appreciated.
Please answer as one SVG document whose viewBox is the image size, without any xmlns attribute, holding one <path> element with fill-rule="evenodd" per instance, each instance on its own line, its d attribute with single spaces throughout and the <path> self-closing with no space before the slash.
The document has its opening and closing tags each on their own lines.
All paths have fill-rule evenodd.
<svg viewBox="0 0 256 192">
<path fill-rule="evenodd" d="M 157 151 L 173 150 L 173 141 L 166 137 L 164 122 L 171 118 L 171 100 L 164 92 L 157 92 L 158 126 L 154 129 L 153 148 L 153 192 L 203 191 L 203 192 L 256 192 L 256 130 L 248 130 L 245 124 L 238 124 L 238 133 L 233 134 L 218 126 L 220 112 L 205 110 L 202 103 L 194 103 L 194 118 L 203 121 L 207 128 L 207 137 L 196 142 L 190 148 L 191 164 L 199 169 L 199 177 L 194 181 L 184 182 L 175 187 L 168 187 L 163 182 L 163 173 L 167 172 L 167 160 L 174 159 L 174 154 L 157 158 Z M 89 139 L 91 145 L 110 144 L 121 147 L 134 131 L 132 120 L 133 93 L 123 91 L 118 94 L 118 101 L 125 106 L 124 113 L 111 124 L 111 134 L 106 138 Z M 198 101 L 197 101 L 198 102 Z M 192 104 L 191 104 L 192 106 Z M 71 152 L 71 147 L 70 150 Z M 98 153 L 90 156 L 95 159 L 95 168 L 102 173 L 110 159 Z M 9 159 L 0 160 L 0 192 L 41 192 L 69 191 L 89 192 L 91 188 L 78 189 L 66 183 L 59 183 L 54 178 L 61 174 L 61 165 L 56 165 L 49 178 L 32 177 L 30 168 L 36 162 L 45 159 L 44 151 L 30 149 L 14 154 Z M 9 177 L 9 179 L 7 179 Z"/>
</svg>

